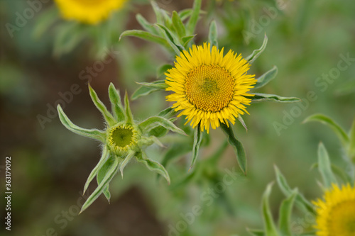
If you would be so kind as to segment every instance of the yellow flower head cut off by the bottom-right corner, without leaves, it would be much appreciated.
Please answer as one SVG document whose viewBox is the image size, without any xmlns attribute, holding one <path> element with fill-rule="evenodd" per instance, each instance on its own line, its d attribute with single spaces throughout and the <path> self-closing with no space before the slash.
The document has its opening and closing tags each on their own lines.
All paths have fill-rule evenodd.
<svg viewBox="0 0 355 236">
<path fill-rule="evenodd" d="M 355 235 L 355 189 L 350 184 L 333 184 L 324 194 L 324 201 L 318 199 L 317 225 L 319 236 L 354 236 Z"/>
</svg>

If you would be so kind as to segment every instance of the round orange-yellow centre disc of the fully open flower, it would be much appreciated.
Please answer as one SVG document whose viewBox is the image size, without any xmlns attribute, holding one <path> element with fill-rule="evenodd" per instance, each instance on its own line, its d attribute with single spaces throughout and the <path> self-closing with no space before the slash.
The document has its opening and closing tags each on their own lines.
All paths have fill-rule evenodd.
<svg viewBox="0 0 355 236">
<path fill-rule="evenodd" d="M 217 65 L 195 67 L 185 82 L 187 99 L 202 111 L 221 111 L 233 99 L 234 78 Z"/>
</svg>

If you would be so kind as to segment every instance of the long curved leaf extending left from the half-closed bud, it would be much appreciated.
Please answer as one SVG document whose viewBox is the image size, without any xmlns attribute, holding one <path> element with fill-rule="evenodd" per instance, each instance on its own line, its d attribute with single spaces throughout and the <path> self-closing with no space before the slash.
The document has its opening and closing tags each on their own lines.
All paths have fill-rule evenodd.
<svg viewBox="0 0 355 236">
<path fill-rule="evenodd" d="M 82 135 L 85 137 L 91 137 L 94 138 L 95 140 L 105 142 L 106 133 L 97 129 L 88 130 L 88 129 L 80 128 L 79 126 L 73 124 L 69 118 L 67 118 L 67 115 L 65 115 L 64 111 L 62 110 L 62 107 L 59 104 L 57 106 L 57 110 L 58 110 L 60 121 L 65 126 L 65 128 L 72 131 L 72 133 L 76 133 L 77 135 Z"/>
</svg>

